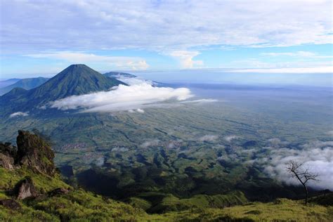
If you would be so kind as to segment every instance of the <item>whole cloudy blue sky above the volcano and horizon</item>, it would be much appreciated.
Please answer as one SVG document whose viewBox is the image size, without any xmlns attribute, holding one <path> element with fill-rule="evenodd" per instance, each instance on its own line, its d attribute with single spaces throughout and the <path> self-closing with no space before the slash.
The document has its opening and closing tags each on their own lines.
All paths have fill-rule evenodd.
<svg viewBox="0 0 333 222">
<path fill-rule="evenodd" d="M 4 0 L 0 22 L 1 78 L 72 63 L 101 72 L 333 72 L 332 1 Z"/>
</svg>

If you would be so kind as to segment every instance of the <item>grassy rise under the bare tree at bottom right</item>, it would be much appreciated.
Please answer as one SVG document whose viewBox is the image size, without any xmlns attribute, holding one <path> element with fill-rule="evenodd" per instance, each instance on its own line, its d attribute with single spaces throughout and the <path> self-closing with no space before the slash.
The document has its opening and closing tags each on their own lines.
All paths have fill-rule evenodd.
<svg viewBox="0 0 333 222">
<path fill-rule="evenodd" d="M 301 202 L 278 199 L 267 204 L 255 202 L 225 209 L 197 209 L 164 216 L 183 221 L 332 221 L 332 210 L 332 207 L 306 207 Z"/>
</svg>

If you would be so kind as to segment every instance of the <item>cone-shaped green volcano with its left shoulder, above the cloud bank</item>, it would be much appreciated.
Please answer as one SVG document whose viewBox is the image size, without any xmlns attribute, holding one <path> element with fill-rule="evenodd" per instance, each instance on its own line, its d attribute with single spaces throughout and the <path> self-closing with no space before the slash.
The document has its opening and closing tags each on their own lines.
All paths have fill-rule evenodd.
<svg viewBox="0 0 333 222">
<path fill-rule="evenodd" d="M 126 85 L 115 78 L 105 77 L 86 65 L 70 65 L 37 88 L 29 91 L 15 88 L 6 93 L 0 97 L 0 106 L 8 108 L 7 114 L 29 111 L 67 96 L 107 91 L 119 84 Z"/>
</svg>

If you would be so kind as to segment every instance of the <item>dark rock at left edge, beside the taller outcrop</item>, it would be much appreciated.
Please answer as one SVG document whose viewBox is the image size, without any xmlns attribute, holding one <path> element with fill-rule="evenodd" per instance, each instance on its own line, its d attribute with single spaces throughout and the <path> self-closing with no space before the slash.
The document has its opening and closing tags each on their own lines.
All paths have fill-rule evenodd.
<svg viewBox="0 0 333 222">
<path fill-rule="evenodd" d="M 0 143 L 0 166 L 5 169 L 15 168 L 16 148 L 11 143 Z"/>
</svg>

